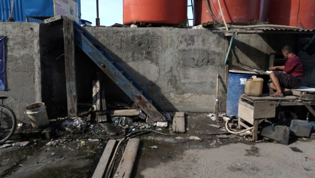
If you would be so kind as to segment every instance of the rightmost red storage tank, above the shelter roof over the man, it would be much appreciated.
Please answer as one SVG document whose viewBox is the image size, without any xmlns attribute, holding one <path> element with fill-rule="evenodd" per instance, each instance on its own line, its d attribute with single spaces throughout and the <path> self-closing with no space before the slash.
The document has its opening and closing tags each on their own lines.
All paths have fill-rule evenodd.
<svg viewBox="0 0 315 178">
<path fill-rule="evenodd" d="M 315 29 L 315 0 L 261 0 L 260 21 Z"/>
</svg>

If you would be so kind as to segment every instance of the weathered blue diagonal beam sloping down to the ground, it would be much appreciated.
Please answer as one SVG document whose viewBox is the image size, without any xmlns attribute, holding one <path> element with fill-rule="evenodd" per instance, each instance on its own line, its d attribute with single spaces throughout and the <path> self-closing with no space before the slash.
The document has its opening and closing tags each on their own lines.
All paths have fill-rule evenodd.
<svg viewBox="0 0 315 178">
<path fill-rule="evenodd" d="M 101 44 L 98 44 L 87 30 L 76 23 L 74 24 L 75 44 L 82 49 L 82 51 L 86 53 L 90 59 L 92 59 L 95 64 L 149 116 L 150 119 L 153 121 L 165 120 L 162 114 L 160 114 L 150 103 L 148 98 L 144 96 L 144 90 L 139 90 L 135 87 L 136 83 L 133 82 L 132 78 L 105 52 L 101 47 Z"/>
</svg>

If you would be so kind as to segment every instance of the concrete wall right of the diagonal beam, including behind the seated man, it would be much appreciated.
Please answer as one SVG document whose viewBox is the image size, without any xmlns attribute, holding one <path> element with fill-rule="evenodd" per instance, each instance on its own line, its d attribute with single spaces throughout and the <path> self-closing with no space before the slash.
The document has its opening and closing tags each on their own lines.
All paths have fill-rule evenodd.
<svg viewBox="0 0 315 178">
<path fill-rule="evenodd" d="M 112 57 L 167 111 L 213 112 L 216 75 L 220 80 L 220 105 L 225 111 L 225 37 L 205 29 L 95 28 L 88 27 Z M 284 44 L 298 51 L 311 34 L 237 34 L 233 50 L 242 63 L 267 70 L 270 53 Z M 304 39 L 305 40 L 305 39 Z M 314 54 L 310 52 L 310 54 Z M 314 82 L 314 55 L 301 57 L 305 68 L 303 85 Z M 229 69 L 241 69 L 230 54 Z M 265 76 L 268 80 L 268 76 Z M 268 86 L 267 86 L 268 89 Z M 269 89 L 268 89 L 269 91 Z M 267 91 L 267 92 L 268 92 Z"/>
</svg>

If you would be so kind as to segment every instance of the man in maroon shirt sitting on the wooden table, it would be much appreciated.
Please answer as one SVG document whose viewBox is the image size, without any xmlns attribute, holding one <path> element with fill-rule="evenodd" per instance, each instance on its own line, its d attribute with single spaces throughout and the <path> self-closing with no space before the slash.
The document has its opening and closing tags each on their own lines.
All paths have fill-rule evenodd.
<svg viewBox="0 0 315 178">
<path fill-rule="evenodd" d="M 272 81 L 270 88 L 275 90 L 270 94 L 273 97 L 284 97 L 284 92 L 299 88 L 303 77 L 302 60 L 293 53 L 292 47 L 285 45 L 282 48 L 282 54 L 286 59 L 285 64 L 269 68 L 269 70 L 283 70 L 270 73 Z"/>
</svg>

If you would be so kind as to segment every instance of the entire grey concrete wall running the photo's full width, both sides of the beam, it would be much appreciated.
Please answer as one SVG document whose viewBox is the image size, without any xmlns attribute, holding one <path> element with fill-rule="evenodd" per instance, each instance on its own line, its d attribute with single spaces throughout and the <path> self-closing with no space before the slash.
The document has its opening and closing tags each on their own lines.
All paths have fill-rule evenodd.
<svg viewBox="0 0 315 178">
<path fill-rule="evenodd" d="M 220 74 L 220 107 L 225 111 L 225 37 L 210 30 L 173 28 L 87 28 L 104 44 L 110 55 L 166 111 L 214 112 L 216 76 Z M 43 101 L 49 115 L 64 115 L 63 32 L 61 26 L 35 23 L 0 23 L 6 36 L 7 89 L 5 101 L 17 118 L 29 122 L 26 106 Z M 300 49 L 311 34 L 237 34 L 233 49 L 241 62 L 267 69 L 269 54 L 280 52 L 284 44 Z M 315 83 L 315 46 L 301 55 L 303 85 Z M 96 66 L 80 50 L 76 52 L 78 102 L 92 102 L 92 80 Z M 241 69 L 229 57 L 230 69 Z M 107 78 L 108 80 L 108 78 Z M 126 96 L 114 83 L 106 86 L 107 99 Z M 125 98 L 124 98 L 125 97 Z M 109 101 L 108 100 L 108 101 Z"/>
</svg>

